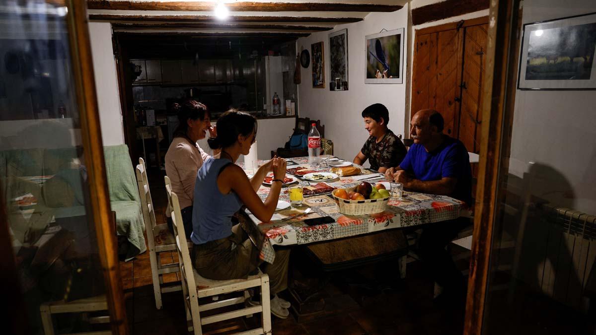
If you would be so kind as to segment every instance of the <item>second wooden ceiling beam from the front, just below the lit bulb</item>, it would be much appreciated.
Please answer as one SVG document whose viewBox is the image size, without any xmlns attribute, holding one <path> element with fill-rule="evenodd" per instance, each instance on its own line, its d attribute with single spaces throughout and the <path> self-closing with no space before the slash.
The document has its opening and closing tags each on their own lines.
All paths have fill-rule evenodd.
<svg viewBox="0 0 596 335">
<path fill-rule="evenodd" d="M 89 14 L 92 21 L 154 21 L 154 22 L 206 22 L 219 23 L 210 15 L 122 15 L 122 14 Z M 362 21 L 361 17 L 299 17 L 299 16 L 229 16 L 226 22 L 297 22 L 297 23 L 352 23 Z"/>
</svg>

